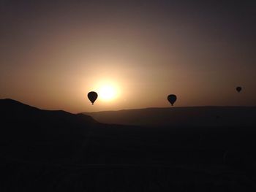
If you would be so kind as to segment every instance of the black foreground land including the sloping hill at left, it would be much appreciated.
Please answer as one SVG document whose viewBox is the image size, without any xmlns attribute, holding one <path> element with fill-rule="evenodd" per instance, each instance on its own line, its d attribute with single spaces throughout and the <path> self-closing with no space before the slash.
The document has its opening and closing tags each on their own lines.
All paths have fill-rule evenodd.
<svg viewBox="0 0 256 192">
<path fill-rule="evenodd" d="M 237 126 L 146 128 L 3 99 L 0 191 L 256 191 L 247 115 Z"/>
</svg>

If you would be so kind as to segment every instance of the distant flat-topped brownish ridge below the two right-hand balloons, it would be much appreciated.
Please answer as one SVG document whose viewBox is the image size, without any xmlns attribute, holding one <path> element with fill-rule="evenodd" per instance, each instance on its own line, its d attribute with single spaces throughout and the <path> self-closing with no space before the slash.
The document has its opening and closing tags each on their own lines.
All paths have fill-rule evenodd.
<svg viewBox="0 0 256 192">
<path fill-rule="evenodd" d="M 146 127 L 256 127 L 256 107 L 167 107 L 84 112 L 101 123 Z"/>
</svg>

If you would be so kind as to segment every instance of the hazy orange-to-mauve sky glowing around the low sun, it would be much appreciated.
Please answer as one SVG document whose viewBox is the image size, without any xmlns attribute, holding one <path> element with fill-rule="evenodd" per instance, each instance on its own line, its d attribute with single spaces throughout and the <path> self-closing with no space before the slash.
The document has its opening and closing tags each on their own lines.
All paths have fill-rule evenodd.
<svg viewBox="0 0 256 192">
<path fill-rule="evenodd" d="M 0 0 L 0 98 L 69 112 L 256 105 L 256 1 Z M 89 91 L 116 89 L 91 106 Z M 236 86 L 243 87 L 236 93 Z"/>
</svg>

